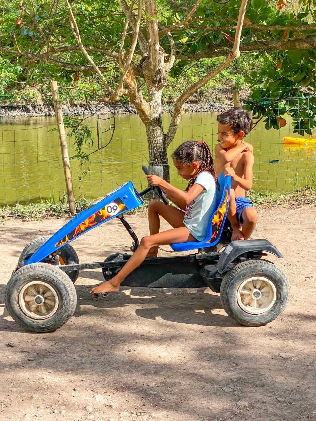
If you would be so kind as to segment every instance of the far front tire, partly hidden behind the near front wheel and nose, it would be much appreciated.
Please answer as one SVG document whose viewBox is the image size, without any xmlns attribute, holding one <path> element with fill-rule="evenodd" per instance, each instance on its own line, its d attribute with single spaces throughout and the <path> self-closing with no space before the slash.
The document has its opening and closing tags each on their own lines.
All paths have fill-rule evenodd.
<svg viewBox="0 0 316 421">
<path fill-rule="evenodd" d="M 30 253 L 35 253 L 44 243 L 46 243 L 48 239 L 49 237 L 40 237 L 27 244 L 23 248 L 22 253 L 19 257 L 18 267 L 22 268 L 24 266 L 25 256 Z M 70 244 L 66 244 L 65 246 L 59 248 L 57 250 L 57 253 L 60 254 L 61 258 L 65 262 L 65 265 L 74 265 L 76 263 L 79 263 L 77 253 Z M 75 283 L 79 275 L 79 269 L 75 271 L 68 271 L 66 272 L 66 274 L 69 276 L 72 282 Z"/>
</svg>

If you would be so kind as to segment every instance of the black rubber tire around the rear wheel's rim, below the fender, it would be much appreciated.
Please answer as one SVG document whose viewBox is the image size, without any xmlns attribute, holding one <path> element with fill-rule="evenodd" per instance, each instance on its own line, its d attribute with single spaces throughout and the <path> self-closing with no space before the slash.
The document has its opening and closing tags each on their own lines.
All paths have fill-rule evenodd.
<svg viewBox="0 0 316 421">
<path fill-rule="evenodd" d="M 264 276 L 276 287 L 276 301 L 267 312 L 262 314 L 246 313 L 237 302 L 240 284 L 251 276 Z M 247 260 L 234 266 L 224 276 L 220 288 L 223 309 L 243 326 L 264 326 L 275 320 L 285 309 L 290 293 L 290 284 L 284 273 L 272 262 L 262 259 Z"/>
</svg>

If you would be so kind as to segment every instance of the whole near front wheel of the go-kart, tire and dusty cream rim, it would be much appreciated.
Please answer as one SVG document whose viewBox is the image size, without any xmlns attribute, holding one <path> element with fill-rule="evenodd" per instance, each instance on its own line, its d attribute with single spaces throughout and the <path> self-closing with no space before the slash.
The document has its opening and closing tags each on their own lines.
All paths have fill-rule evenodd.
<svg viewBox="0 0 316 421">
<path fill-rule="evenodd" d="M 48 263 L 18 269 L 5 291 L 10 316 L 32 332 L 53 332 L 73 315 L 76 290 L 69 276 Z"/>
</svg>

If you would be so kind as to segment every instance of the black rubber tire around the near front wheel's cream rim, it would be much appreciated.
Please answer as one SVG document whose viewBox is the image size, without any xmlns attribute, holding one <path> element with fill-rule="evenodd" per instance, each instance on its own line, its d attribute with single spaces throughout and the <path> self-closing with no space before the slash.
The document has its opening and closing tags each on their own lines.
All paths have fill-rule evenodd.
<svg viewBox="0 0 316 421">
<path fill-rule="evenodd" d="M 32 281 L 41 281 L 53 287 L 59 299 L 55 313 L 36 320 L 22 311 L 19 292 Z M 32 263 L 18 269 L 11 277 L 5 290 L 5 305 L 10 316 L 23 328 L 31 332 L 53 332 L 65 324 L 74 314 L 77 304 L 76 289 L 69 276 L 58 267 L 48 263 Z"/>
</svg>

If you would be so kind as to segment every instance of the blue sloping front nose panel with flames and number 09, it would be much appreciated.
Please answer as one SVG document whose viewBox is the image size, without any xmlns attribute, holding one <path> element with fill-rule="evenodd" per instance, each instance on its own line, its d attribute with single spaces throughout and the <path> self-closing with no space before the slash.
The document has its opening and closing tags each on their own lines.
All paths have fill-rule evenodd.
<svg viewBox="0 0 316 421">
<path fill-rule="evenodd" d="M 26 264 L 38 263 L 58 248 L 65 246 L 80 235 L 90 231 L 121 213 L 138 208 L 144 203 L 132 182 L 128 182 L 107 196 L 94 202 L 58 230 L 44 243 Z"/>
</svg>

